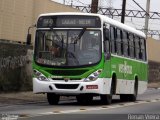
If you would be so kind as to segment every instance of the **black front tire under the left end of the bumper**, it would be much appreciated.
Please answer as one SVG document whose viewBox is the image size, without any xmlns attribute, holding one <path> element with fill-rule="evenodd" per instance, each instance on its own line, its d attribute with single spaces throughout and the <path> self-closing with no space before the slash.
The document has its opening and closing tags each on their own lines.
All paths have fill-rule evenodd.
<svg viewBox="0 0 160 120">
<path fill-rule="evenodd" d="M 59 102 L 60 96 L 54 93 L 47 93 L 47 100 L 50 105 L 57 105 Z"/>
</svg>

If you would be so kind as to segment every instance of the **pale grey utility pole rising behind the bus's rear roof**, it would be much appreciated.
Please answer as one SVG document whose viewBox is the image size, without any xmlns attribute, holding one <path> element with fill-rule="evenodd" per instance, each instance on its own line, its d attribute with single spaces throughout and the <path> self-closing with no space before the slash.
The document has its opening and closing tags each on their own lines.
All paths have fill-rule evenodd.
<svg viewBox="0 0 160 120">
<path fill-rule="evenodd" d="M 147 33 L 148 33 L 149 10 L 150 10 L 150 0 L 147 0 L 147 4 L 146 4 L 146 18 L 145 18 L 145 26 L 144 26 L 144 32 L 145 32 L 146 36 L 147 36 Z"/>
</svg>

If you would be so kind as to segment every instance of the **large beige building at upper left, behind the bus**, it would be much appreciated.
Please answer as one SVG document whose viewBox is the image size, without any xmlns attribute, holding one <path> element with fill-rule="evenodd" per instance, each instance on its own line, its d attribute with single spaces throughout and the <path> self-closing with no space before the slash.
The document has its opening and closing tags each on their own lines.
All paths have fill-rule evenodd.
<svg viewBox="0 0 160 120">
<path fill-rule="evenodd" d="M 51 0 L 0 0 L 0 40 L 26 42 L 28 27 L 39 14 L 64 11 L 78 10 Z"/>
</svg>

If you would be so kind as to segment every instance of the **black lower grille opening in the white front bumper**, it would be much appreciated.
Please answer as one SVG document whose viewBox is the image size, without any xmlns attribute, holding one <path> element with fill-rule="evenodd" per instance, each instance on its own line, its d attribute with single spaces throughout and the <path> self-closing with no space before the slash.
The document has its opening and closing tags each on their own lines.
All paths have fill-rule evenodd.
<svg viewBox="0 0 160 120">
<path fill-rule="evenodd" d="M 57 89 L 77 89 L 79 84 L 55 84 Z"/>
</svg>

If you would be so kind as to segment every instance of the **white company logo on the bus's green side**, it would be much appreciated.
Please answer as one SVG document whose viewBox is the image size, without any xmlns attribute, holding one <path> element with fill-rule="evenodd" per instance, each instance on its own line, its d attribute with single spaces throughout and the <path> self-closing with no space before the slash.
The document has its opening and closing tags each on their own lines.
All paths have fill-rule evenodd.
<svg viewBox="0 0 160 120">
<path fill-rule="evenodd" d="M 124 61 L 124 64 L 119 64 L 119 72 L 124 74 L 132 74 L 132 66 L 127 65 L 127 61 Z"/>
</svg>

